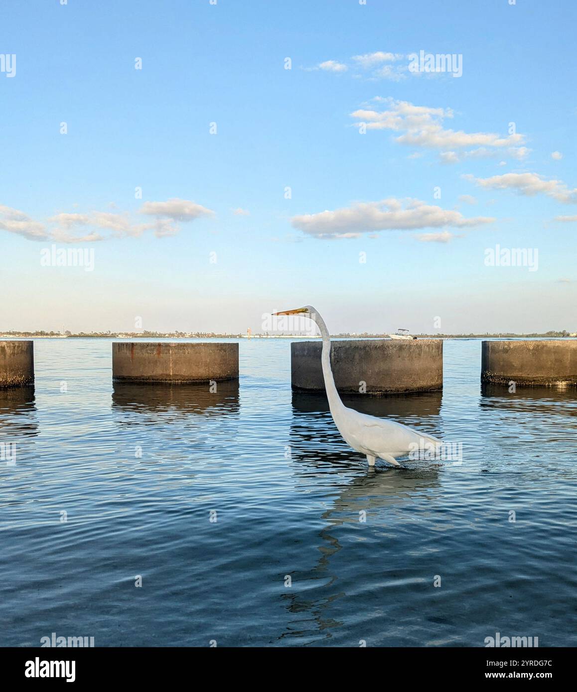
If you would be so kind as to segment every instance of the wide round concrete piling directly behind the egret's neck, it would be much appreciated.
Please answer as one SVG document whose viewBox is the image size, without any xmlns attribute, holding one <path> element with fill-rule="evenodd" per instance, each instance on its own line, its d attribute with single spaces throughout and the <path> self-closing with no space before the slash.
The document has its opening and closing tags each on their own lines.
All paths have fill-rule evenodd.
<svg viewBox="0 0 577 692">
<path fill-rule="evenodd" d="M 319 341 L 292 342 L 294 389 L 324 390 L 321 349 Z M 395 394 L 443 388 L 441 339 L 333 341 L 330 363 L 342 393 Z"/>
</svg>

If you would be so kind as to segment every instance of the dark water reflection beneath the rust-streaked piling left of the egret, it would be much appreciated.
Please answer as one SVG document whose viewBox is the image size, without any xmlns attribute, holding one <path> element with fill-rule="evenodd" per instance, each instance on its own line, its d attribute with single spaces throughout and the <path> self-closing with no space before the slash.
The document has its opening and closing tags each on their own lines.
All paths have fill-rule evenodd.
<svg viewBox="0 0 577 692">
<path fill-rule="evenodd" d="M 112 408 L 150 415 L 234 415 L 239 411 L 238 380 L 190 385 L 114 383 Z"/>
</svg>

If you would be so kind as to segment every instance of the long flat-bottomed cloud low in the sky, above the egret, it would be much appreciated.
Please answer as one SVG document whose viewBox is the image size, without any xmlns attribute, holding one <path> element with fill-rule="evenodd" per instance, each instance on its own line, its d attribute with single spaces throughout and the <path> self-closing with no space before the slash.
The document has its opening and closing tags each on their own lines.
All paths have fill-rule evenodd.
<svg viewBox="0 0 577 692">
<path fill-rule="evenodd" d="M 404 207 L 403 207 L 404 203 Z M 318 238 L 357 237 L 375 230 L 417 230 L 419 228 L 466 228 L 490 224 L 495 219 L 466 219 L 461 212 L 429 205 L 418 199 L 384 199 L 318 214 L 292 217 L 294 228 Z"/>
</svg>

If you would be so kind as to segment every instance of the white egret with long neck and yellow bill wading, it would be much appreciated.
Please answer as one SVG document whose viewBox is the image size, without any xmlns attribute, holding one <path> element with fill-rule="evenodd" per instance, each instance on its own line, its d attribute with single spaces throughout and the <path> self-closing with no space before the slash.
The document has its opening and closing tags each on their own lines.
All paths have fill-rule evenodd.
<svg viewBox="0 0 577 692">
<path fill-rule="evenodd" d="M 275 315 L 299 315 L 307 317 L 319 327 L 323 338 L 321 363 L 325 381 L 326 395 L 332 420 L 335 421 L 339 432 L 347 444 L 353 449 L 366 455 L 369 466 L 375 465 L 375 459 L 399 466 L 395 457 L 402 457 L 410 451 L 431 449 L 432 444 L 442 444 L 441 440 L 427 435 L 425 432 L 411 430 L 396 421 L 369 416 L 348 408 L 341 401 L 335 386 L 335 379 L 330 368 L 330 335 L 323 318 L 311 305 L 305 305 L 295 310 L 276 312 Z"/>
</svg>

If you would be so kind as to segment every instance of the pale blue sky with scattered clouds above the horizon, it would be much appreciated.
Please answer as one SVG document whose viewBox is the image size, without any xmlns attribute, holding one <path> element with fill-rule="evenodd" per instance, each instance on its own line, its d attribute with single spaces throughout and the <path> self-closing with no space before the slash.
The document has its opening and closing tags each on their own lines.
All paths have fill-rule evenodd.
<svg viewBox="0 0 577 692">
<path fill-rule="evenodd" d="M 335 332 L 577 330 L 576 15 L 3 0 L 0 329 L 260 331 L 313 304 Z M 462 75 L 412 73 L 420 51 Z M 42 266 L 53 244 L 94 271 Z M 486 266 L 497 244 L 537 271 Z"/>
</svg>

